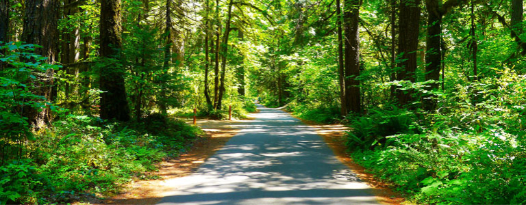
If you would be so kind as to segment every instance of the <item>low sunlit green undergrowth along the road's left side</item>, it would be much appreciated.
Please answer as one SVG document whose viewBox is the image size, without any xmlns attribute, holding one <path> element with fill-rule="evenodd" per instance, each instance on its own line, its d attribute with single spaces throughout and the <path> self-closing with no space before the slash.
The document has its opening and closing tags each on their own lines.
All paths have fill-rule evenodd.
<svg viewBox="0 0 526 205">
<path fill-rule="evenodd" d="M 37 131 L 25 157 L 0 166 L 1 204 L 68 203 L 116 192 L 167 156 L 184 152 L 203 131 L 153 114 L 142 122 L 68 116 Z"/>
</svg>

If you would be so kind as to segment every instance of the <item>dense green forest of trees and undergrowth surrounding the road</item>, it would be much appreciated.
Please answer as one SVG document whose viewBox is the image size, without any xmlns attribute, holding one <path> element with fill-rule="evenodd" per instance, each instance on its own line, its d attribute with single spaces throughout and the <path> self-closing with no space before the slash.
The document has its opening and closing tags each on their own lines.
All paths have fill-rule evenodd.
<svg viewBox="0 0 526 205">
<path fill-rule="evenodd" d="M 266 107 L 414 204 L 526 204 L 523 0 L 0 0 L 0 202 L 118 191 Z M 525 120 L 523 122 L 523 120 Z"/>
</svg>

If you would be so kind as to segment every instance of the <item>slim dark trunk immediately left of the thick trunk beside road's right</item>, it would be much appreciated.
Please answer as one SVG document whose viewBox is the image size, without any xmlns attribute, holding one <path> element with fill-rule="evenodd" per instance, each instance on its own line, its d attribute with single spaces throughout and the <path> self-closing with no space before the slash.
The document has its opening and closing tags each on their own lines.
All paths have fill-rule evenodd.
<svg viewBox="0 0 526 205">
<path fill-rule="evenodd" d="M 343 37 L 342 37 L 342 9 L 340 0 L 336 0 L 336 27 L 338 27 L 338 82 L 340 83 L 340 115 L 347 115 L 347 102 L 345 98 L 345 67 L 343 66 Z"/>
</svg>

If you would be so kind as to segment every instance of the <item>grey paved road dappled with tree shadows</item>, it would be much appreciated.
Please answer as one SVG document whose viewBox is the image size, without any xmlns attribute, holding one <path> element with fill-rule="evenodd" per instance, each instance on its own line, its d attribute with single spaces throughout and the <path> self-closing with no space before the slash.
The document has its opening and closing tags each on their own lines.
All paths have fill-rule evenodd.
<svg viewBox="0 0 526 205">
<path fill-rule="evenodd" d="M 378 204 L 371 188 L 288 113 L 258 105 L 256 119 L 160 204 Z"/>
</svg>

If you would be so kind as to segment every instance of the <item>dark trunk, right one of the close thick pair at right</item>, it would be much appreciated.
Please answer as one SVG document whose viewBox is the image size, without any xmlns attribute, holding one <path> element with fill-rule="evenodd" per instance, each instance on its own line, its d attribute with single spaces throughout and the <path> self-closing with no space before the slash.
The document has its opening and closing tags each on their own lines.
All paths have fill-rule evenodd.
<svg viewBox="0 0 526 205">
<path fill-rule="evenodd" d="M 442 36 L 442 13 L 440 12 L 439 0 L 425 0 L 427 9 L 427 38 L 425 52 L 425 81 L 435 81 L 426 87 L 426 90 L 438 90 L 440 80 L 440 65 L 442 61 L 442 47 L 440 38 Z M 436 108 L 434 95 L 423 96 L 423 107 L 425 111 L 433 111 Z"/>
</svg>

